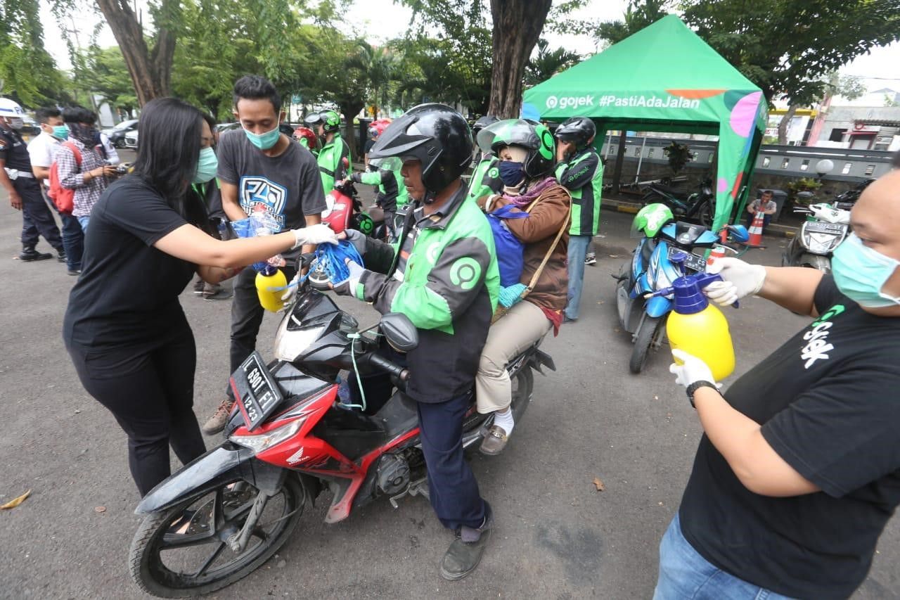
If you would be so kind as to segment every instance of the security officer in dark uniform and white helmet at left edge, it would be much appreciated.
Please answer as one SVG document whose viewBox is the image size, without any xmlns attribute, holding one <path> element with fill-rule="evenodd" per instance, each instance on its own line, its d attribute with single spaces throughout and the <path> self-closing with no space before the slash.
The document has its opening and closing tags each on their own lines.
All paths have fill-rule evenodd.
<svg viewBox="0 0 900 600">
<path fill-rule="evenodd" d="M 60 262 L 66 261 L 62 237 L 49 206 L 40 193 L 40 183 L 31 173 L 31 157 L 20 135 L 23 127 L 22 106 L 9 98 L 0 98 L 0 185 L 9 194 L 10 205 L 22 211 L 22 253 L 23 262 L 52 259 L 53 255 L 39 252 L 38 234 L 57 251 Z"/>
</svg>

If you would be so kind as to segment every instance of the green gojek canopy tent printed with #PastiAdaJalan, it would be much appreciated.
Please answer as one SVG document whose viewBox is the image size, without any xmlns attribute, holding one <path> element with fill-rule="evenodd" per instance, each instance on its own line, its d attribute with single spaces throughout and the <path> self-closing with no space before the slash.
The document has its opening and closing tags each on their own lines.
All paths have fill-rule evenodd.
<svg viewBox="0 0 900 600">
<path fill-rule="evenodd" d="M 522 116 L 587 116 L 609 130 L 719 136 L 714 231 L 743 205 L 768 105 L 759 87 L 674 14 L 525 92 Z"/>
</svg>

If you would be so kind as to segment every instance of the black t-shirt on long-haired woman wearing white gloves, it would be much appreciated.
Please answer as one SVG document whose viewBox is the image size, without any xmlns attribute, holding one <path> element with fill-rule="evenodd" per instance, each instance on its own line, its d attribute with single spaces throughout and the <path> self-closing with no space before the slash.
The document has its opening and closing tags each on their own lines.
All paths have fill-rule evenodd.
<svg viewBox="0 0 900 600">
<path fill-rule="evenodd" d="M 178 295 L 196 267 L 153 247 L 184 224 L 138 177 L 103 192 L 91 212 L 82 274 L 68 298 L 67 345 L 143 346 L 186 326 Z"/>
</svg>

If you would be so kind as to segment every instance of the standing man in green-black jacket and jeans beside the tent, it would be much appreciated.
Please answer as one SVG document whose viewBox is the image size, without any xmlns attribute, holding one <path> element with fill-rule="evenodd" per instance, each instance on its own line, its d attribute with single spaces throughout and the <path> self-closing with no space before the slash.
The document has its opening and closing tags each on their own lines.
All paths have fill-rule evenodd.
<svg viewBox="0 0 900 600">
<path fill-rule="evenodd" d="M 556 179 L 572 194 L 567 322 L 578 319 L 584 263 L 600 223 L 603 163 L 592 145 L 596 135 L 597 127 L 587 117 L 572 117 L 556 128 Z"/>
</svg>

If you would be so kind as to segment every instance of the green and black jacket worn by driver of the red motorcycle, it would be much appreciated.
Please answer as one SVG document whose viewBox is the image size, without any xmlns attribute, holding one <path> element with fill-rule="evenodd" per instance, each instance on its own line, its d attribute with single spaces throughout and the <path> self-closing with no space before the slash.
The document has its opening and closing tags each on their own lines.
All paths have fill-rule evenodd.
<svg viewBox="0 0 900 600">
<path fill-rule="evenodd" d="M 467 393 L 500 294 L 491 225 L 465 188 L 437 213 L 418 203 L 407 214 L 401 242 L 366 239 L 365 267 L 356 289 L 379 313 L 406 314 L 419 329 L 407 354 L 407 394 L 446 402 Z"/>
</svg>

